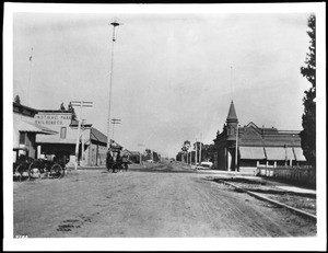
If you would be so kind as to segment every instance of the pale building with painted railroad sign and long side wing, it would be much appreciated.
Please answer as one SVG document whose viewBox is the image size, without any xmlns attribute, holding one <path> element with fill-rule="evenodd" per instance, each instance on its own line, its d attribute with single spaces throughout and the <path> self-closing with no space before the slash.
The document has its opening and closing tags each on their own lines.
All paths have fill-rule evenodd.
<svg viewBox="0 0 328 253">
<path fill-rule="evenodd" d="M 38 154 L 67 157 L 69 165 L 75 162 L 79 122 L 72 111 L 40 110 L 34 116 L 35 122 L 58 131 L 52 136 L 38 136 Z M 106 164 L 107 137 L 92 127 L 81 123 L 79 136 L 78 164 L 81 166 L 102 166 Z"/>
</svg>

